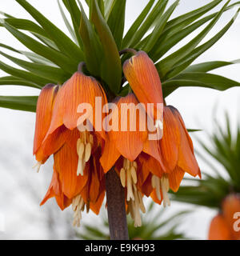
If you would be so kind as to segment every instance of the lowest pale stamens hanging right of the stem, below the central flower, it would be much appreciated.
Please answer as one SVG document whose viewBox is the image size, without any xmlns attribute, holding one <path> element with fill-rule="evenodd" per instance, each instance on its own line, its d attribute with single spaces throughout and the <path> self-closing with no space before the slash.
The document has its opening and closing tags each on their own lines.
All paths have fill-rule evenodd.
<svg viewBox="0 0 240 256">
<path fill-rule="evenodd" d="M 128 213 L 130 213 L 131 218 L 134 219 L 134 226 L 142 226 L 142 219 L 140 210 L 142 213 L 146 212 L 145 206 L 142 202 L 142 194 L 137 190 L 136 185 L 134 184 L 134 200 L 130 199 L 128 204 Z"/>
</svg>

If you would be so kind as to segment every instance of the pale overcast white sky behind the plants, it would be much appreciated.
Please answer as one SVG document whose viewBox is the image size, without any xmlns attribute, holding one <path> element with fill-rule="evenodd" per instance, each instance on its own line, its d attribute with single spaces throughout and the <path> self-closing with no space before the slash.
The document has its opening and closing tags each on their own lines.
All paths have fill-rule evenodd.
<svg viewBox="0 0 240 256">
<path fill-rule="evenodd" d="M 54 24 L 67 33 L 61 14 L 58 10 L 56 0 L 29 0 L 38 10 L 50 18 Z M 81 0 L 81 2 L 84 2 Z M 146 6 L 147 0 L 127 0 L 126 6 L 126 29 L 130 27 L 134 19 Z M 173 1 L 170 1 L 170 3 Z M 174 11 L 173 17 L 179 14 L 186 13 L 199 6 L 203 6 L 209 0 L 182 0 Z M 226 2 L 226 1 L 225 1 Z M 225 3 L 224 2 L 224 3 Z M 232 1 L 236 2 L 236 1 Z M 222 6 L 222 5 L 221 5 Z M 219 10 L 217 7 L 215 10 Z M 14 0 L 0 0 L 0 10 L 18 18 L 30 18 L 30 15 L 22 9 Z M 236 9 L 235 9 L 236 10 Z M 222 18 L 214 26 L 214 29 L 208 34 L 203 42 L 206 42 L 214 34 L 218 33 L 223 26 L 233 16 L 235 10 L 230 10 L 222 15 Z M 196 62 L 206 62 L 212 60 L 232 61 L 240 58 L 240 18 L 234 23 L 226 35 L 216 43 L 211 50 L 203 54 Z M 198 34 L 199 30 L 190 36 Z M 189 39 L 189 38 L 188 38 Z M 0 42 L 13 46 L 16 49 L 24 49 L 15 38 L 0 27 Z M 186 40 L 183 40 L 178 46 L 184 45 Z M 174 47 L 174 49 L 176 49 Z M 0 57 L 1 61 L 6 61 Z M 10 63 L 6 61 L 7 63 Z M 13 65 L 14 66 L 14 65 Z M 239 65 L 228 66 L 222 69 L 214 70 L 214 74 L 221 74 L 227 78 L 231 78 L 240 82 L 240 67 Z M 0 70 L 0 75 L 5 74 Z M 1 86 L 0 95 L 38 95 L 39 90 L 25 88 L 23 86 Z M 232 126 L 237 125 L 239 121 L 239 96 L 240 88 L 232 88 L 224 92 L 210 90 L 205 88 L 181 88 L 176 90 L 168 98 L 167 104 L 173 105 L 182 114 L 186 126 L 188 128 L 197 128 L 204 131 L 198 133 L 198 137 L 206 139 L 206 132 L 214 132 L 213 130 L 213 110 L 214 106 L 218 106 L 216 114 L 219 122 L 224 123 L 224 112 L 230 115 Z M 44 239 L 46 236 L 46 225 L 42 223 L 44 211 L 47 206 L 39 207 L 38 204 L 42 200 L 46 189 L 50 183 L 51 163 L 48 166 L 43 166 L 41 173 L 36 174 L 31 166 L 34 163 L 32 156 L 32 144 L 34 138 L 34 118 L 35 114 L 16 110 L 7 110 L 0 108 L 0 214 L 5 214 L 6 231 L 0 232 L 0 239 Z M 197 145 L 194 139 L 194 144 Z M 198 148 L 198 145 L 196 146 Z M 198 159 L 199 166 L 202 170 L 208 170 L 208 167 L 201 159 Z M 20 182 L 22 179 L 23 182 Z M 30 198 L 24 190 L 27 190 L 27 181 L 34 184 L 34 189 L 37 190 L 37 198 Z M 54 205 L 54 202 L 48 203 Z M 186 209 L 186 205 L 176 202 L 172 203 L 171 210 Z M 50 208 L 50 207 L 48 207 Z M 26 213 L 27 212 L 27 213 Z M 28 214 L 34 215 L 35 220 L 28 218 Z M 191 218 L 187 218 L 182 225 L 182 229 L 186 230 L 186 234 L 191 237 L 206 239 L 207 230 L 210 219 L 216 214 L 213 210 L 206 210 L 204 207 L 199 207 L 198 210 L 191 214 Z M 54 215 L 58 222 L 60 231 L 57 238 L 65 238 L 61 235 L 61 219 L 64 213 L 58 210 Z M 85 221 L 91 221 L 93 215 L 87 216 L 83 214 Z M 94 218 L 97 220 L 98 218 Z M 71 225 L 69 223 L 69 225 Z M 80 229 L 81 232 L 81 229 Z"/>
</svg>

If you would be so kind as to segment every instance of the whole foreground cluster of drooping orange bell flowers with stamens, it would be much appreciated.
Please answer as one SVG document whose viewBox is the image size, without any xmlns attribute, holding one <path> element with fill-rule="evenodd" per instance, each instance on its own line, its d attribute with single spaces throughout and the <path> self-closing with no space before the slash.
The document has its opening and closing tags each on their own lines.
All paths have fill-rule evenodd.
<svg viewBox="0 0 240 256">
<path fill-rule="evenodd" d="M 34 154 L 39 167 L 54 155 L 54 174 L 42 204 L 54 197 L 64 210 L 70 204 L 74 210 L 74 225 L 79 226 L 82 211 L 93 210 L 98 214 L 105 195 L 104 174 L 109 170 L 118 173 L 126 190 L 126 211 L 134 218 L 135 226 L 141 226 L 140 210 L 145 212 L 142 197 L 170 205 L 167 192 L 177 191 L 187 172 L 201 176 L 194 157 L 194 147 L 178 110 L 163 107 L 163 126 L 158 109 L 154 107 L 150 118 L 156 122 L 162 139 L 149 140 L 147 130 L 141 130 L 141 120 L 146 112 L 139 109 L 135 131 L 129 129 L 130 114 L 121 112 L 122 103 L 129 110 L 148 103 L 163 103 L 162 85 L 154 62 L 139 51 L 123 65 L 123 72 L 133 93 L 114 100 L 117 108 L 111 115 L 127 125 L 126 130 L 98 131 L 95 119 L 85 113 L 85 121 L 93 129 L 80 131 L 81 103 L 89 103 L 95 109 L 95 98 L 107 103 L 106 93 L 100 83 L 82 71 L 76 72 L 63 86 L 47 85 L 38 98 Z M 102 114 L 102 123 L 106 114 Z"/>
</svg>

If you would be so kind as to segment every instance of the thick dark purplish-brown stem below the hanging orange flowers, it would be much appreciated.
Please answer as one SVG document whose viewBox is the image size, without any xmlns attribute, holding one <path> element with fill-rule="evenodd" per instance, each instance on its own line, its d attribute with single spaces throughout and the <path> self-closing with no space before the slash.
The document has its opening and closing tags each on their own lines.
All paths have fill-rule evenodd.
<svg viewBox="0 0 240 256">
<path fill-rule="evenodd" d="M 110 239 L 128 240 L 124 188 L 114 168 L 105 177 Z"/>
</svg>

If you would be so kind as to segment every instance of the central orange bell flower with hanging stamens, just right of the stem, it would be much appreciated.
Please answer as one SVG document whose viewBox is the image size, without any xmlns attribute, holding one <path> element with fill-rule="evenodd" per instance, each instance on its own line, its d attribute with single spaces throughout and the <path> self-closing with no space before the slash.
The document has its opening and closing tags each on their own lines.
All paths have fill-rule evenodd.
<svg viewBox="0 0 240 256">
<path fill-rule="evenodd" d="M 118 98 L 115 103 L 117 107 L 111 115 L 112 130 L 108 132 L 100 162 L 105 172 L 115 164 L 122 186 L 126 188 L 127 209 L 134 218 L 135 226 L 140 226 L 139 210 L 145 211 L 142 192 L 147 186 L 146 178 L 150 172 L 161 177 L 163 166 L 158 142 L 148 139 L 146 112 L 138 105 L 134 94 Z"/>
</svg>

